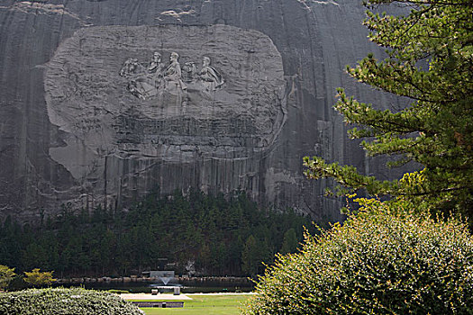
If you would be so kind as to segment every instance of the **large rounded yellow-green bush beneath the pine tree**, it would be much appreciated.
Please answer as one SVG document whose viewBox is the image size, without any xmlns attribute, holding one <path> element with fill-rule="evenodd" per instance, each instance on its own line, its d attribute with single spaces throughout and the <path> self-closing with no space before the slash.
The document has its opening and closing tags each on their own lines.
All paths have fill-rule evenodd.
<svg viewBox="0 0 473 315">
<path fill-rule="evenodd" d="M 473 238 L 455 219 L 432 220 L 365 201 L 359 214 L 259 278 L 245 314 L 473 314 Z"/>
</svg>

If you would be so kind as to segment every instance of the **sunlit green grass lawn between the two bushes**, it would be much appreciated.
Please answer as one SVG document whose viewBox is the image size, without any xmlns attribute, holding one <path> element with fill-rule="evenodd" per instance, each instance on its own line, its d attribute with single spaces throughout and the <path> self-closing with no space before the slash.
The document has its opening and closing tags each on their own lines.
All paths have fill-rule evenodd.
<svg viewBox="0 0 473 315">
<path fill-rule="evenodd" d="M 239 307 L 242 302 L 250 298 L 249 294 L 187 294 L 192 301 L 185 301 L 184 308 L 178 309 L 160 309 L 160 308 L 142 308 L 146 315 L 154 314 L 186 314 L 186 315 L 232 315 L 240 314 Z"/>
</svg>

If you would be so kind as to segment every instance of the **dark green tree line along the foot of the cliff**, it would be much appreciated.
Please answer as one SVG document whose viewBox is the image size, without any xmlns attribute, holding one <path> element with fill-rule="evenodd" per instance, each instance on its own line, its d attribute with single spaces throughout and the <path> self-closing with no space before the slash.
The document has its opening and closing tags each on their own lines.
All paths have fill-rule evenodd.
<svg viewBox="0 0 473 315">
<path fill-rule="evenodd" d="M 277 252 L 296 251 L 304 227 L 314 229 L 295 211 L 260 210 L 245 193 L 151 193 L 126 211 L 63 206 L 38 226 L 7 218 L 0 264 L 57 276 L 131 275 L 166 258 L 182 274 L 193 265 L 200 275 L 256 275 Z"/>
</svg>

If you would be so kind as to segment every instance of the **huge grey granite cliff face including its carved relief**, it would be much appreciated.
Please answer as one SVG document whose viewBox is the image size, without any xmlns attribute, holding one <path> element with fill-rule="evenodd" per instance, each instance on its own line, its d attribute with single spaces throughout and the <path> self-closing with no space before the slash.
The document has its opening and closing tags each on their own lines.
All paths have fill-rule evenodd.
<svg viewBox="0 0 473 315">
<path fill-rule="evenodd" d="M 159 186 L 244 189 L 340 220 L 302 157 L 392 175 L 332 110 L 338 86 L 396 103 L 343 73 L 380 52 L 363 12 L 350 0 L 2 1 L 1 216 L 120 207 Z"/>
</svg>

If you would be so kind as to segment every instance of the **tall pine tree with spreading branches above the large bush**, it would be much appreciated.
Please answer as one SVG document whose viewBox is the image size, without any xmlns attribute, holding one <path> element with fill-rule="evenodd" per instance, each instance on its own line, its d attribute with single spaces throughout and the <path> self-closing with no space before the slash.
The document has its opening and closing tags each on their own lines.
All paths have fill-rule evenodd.
<svg viewBox="0 0 473 315">
<path fill-rule="evenodd" d="M 387 58 L 368 55 L 350 76 L 412 100 L 405 109 L 377 110 L 339 89 L 335 109 L 352 139 L 364 139 L 370 156 L 395 157 L 389 166 L 414 161 L 423 166 L 402 179 L 380 181 L 353 166 L 305 157 L 310 178 L 332 177 L 350 189 L 391 195 L 419 209 L 457 211 L 473 224 L 473 2 L 471 0 L 368 0 L 410 7 L 393 16 L 368 11 L 369 39 L 387 48 Z M 428 67 L 425 67 L 427 65 Z"/>
</svg>

